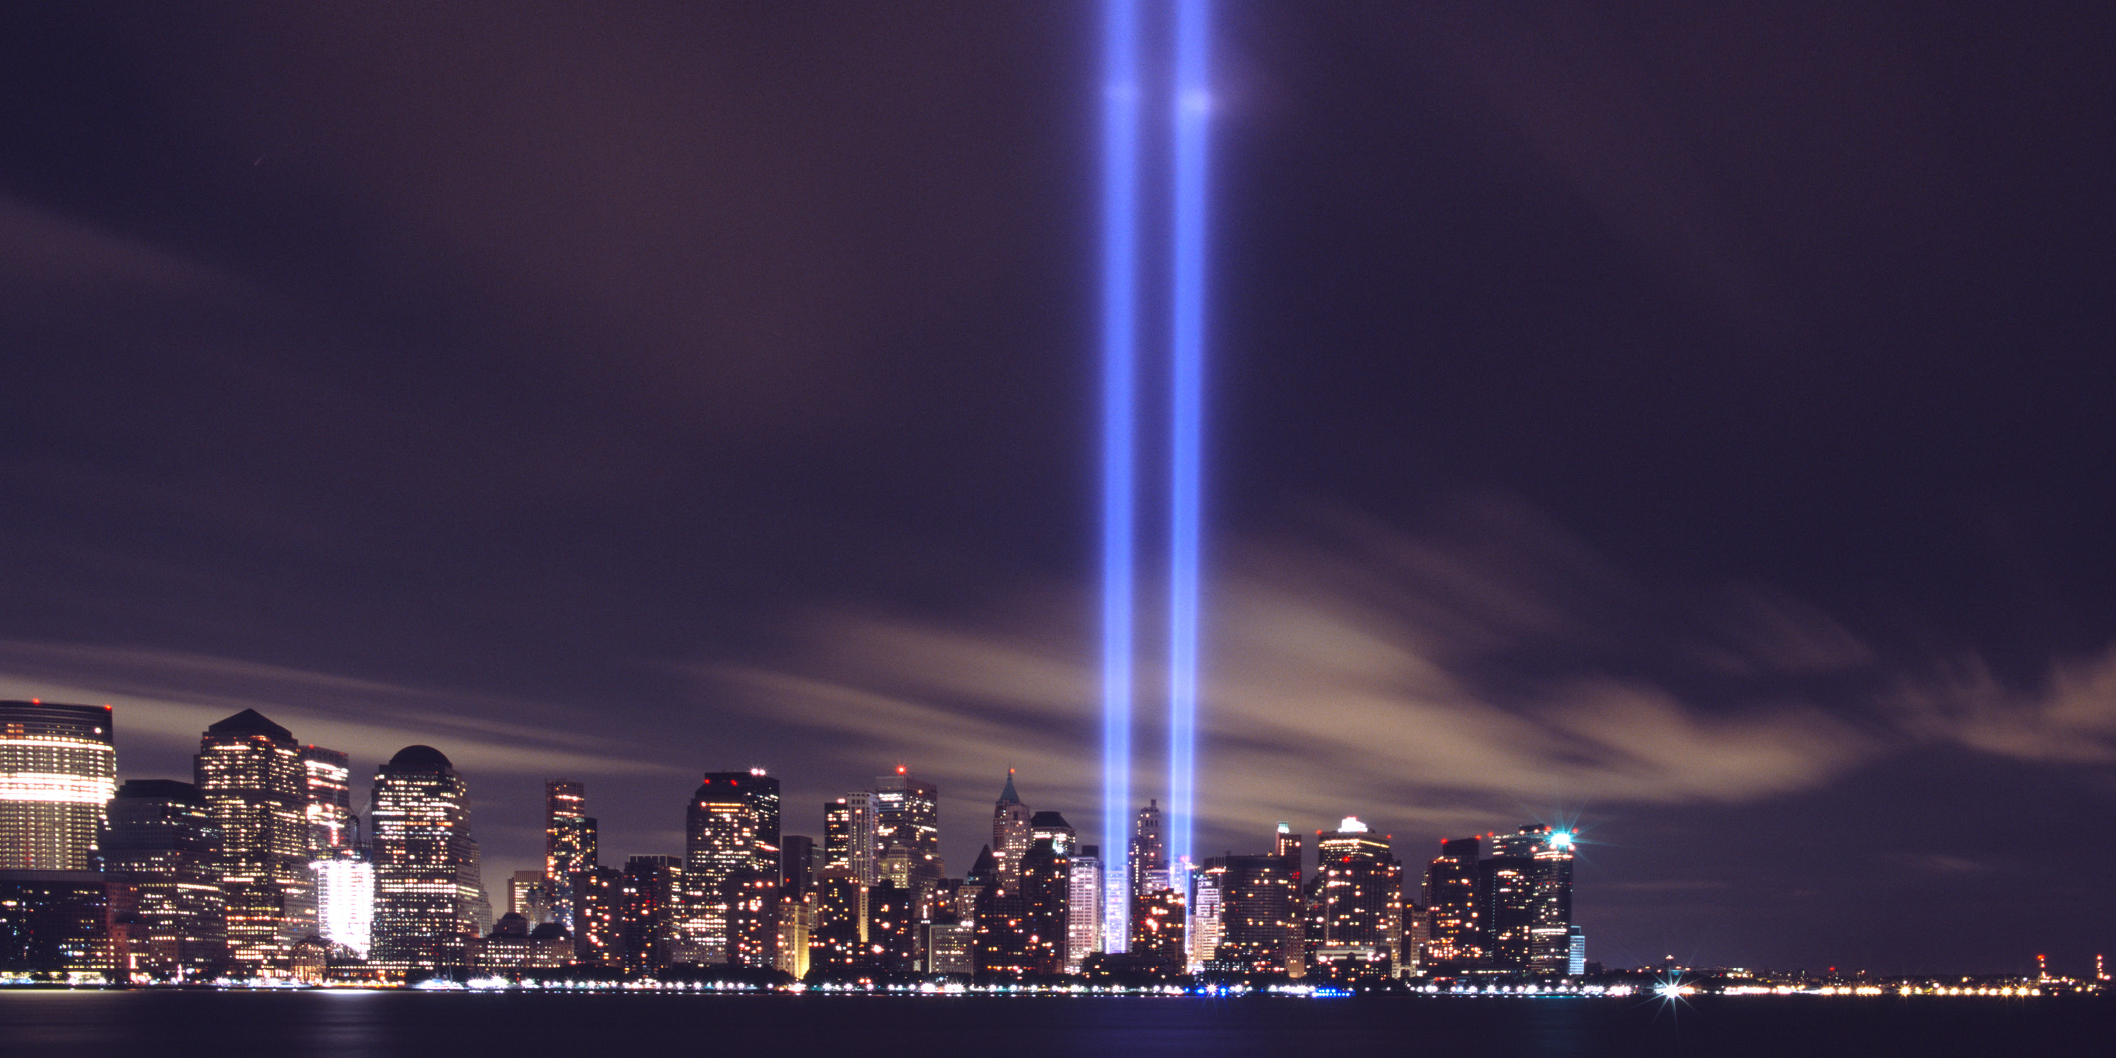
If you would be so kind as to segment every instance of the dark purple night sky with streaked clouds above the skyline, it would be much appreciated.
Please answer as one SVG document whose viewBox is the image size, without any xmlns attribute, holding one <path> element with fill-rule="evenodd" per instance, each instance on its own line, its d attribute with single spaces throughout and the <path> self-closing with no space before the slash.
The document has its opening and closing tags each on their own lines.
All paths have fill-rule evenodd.
<svg viewBox="0 0 2116 1058">
<path fill-rule="evenodd" d="M 2110 55 L 1221 2 L 1200 849 L 1576 821 L 1610 965 L 2116 952 Z M 6 4 L 0 99 L 0 696 L 123 779 L 430 743 L 495 895 L 561 774 L 605 861 L 747 766 L 908 764 L 950 874 L 1009 766 L 1100 829 L 1094 4 Z"/>
</svg>

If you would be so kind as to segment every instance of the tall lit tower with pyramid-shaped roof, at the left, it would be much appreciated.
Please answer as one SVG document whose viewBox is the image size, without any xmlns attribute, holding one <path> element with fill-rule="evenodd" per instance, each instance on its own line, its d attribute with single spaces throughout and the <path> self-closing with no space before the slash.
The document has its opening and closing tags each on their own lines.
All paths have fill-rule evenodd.
<svg viewBox="0 0 2116 1058">
<path fill-rule="evenodd" d="M 279 973 L 294 944 L 315 933 L 300 743 L 243 709 L 205 728 L 193 770 L 220 827 L 229 959 L 239 975 Z"/>
</svg>

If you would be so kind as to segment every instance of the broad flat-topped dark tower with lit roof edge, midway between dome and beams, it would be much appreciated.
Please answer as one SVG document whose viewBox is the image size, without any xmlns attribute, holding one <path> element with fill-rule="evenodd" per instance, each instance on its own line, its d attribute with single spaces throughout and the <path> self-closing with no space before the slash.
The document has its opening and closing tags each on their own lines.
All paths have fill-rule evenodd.
<svg viewBox="0 0 2116 1058">
<path fill-rule="evenodd" d="M 707 772 L 683 815 L 688 961 L 770 969 L 779 948 L 779 779 Z"/>
</svg>

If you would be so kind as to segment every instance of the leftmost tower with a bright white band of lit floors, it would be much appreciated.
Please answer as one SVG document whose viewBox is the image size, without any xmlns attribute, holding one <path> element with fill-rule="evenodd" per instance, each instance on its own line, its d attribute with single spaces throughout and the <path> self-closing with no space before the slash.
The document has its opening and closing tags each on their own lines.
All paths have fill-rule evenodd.
<svg viewBox="0 0 2116 1058">
<path fill-rule="evenodd" d="M 0 703 L 0 870 L 89 870 L 116 774 L 108 705 Z"/>
</svg>

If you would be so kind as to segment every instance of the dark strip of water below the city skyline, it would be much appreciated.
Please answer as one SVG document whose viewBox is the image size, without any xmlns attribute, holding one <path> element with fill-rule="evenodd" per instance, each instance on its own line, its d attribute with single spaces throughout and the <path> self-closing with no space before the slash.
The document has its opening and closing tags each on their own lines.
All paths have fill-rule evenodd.
<svg viewBox="0 0 2116 1058">
<path fill-rule="evenodd" d="M 2116 1052 L 2108 999 L 0 990 L 4 1058 L 1350 1058 Z"/>
</svg>

